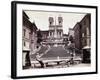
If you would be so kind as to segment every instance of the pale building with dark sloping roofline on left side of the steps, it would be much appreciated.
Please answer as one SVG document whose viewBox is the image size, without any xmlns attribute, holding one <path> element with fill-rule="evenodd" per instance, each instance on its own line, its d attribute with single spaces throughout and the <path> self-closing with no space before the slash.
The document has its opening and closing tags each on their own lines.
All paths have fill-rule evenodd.
<svg viewBox="0 0 100 80">
<path fill-rule="evenodd" d="M 36 30 L 37 27 L 35 23 L 29 21 L 29 17 L 23 12 L 23 26 L 22 26 L 22 60 L 23 68 L 25 66 L 31 66 L 30 63 L 30 54 L 36 48 Z"/>
</svg>

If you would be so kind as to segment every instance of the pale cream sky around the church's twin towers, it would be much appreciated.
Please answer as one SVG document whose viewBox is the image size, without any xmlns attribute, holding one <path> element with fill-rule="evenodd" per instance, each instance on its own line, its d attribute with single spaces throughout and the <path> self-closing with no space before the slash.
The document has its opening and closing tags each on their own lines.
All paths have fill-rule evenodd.
<svg viewBox="0 0 100 80">
<path fill-rule="evenodd" d="M 32 11 L 25 10 L 31 22 L 35 22 L 40 30 L 49 30 L 49 17 L 56 20 L 60 16 L 63 18 L 63 32 L 68 34 L 69 28 L 73 28 L 77 22 L 80 22 L 86 13 L 70 13 L 70 12 L 46 12 L 46 11 Z"/>
</svg>

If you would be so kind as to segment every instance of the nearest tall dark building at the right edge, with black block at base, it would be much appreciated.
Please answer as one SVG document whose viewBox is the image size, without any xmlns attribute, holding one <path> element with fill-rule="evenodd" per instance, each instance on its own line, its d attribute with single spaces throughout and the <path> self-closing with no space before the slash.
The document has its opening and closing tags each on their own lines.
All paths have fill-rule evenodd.
<svg viewBox="0 0 100 80">
<path fill-rule="evenodd" d="M 80 22 L 82 34 L 83 62 L 91 62 L 91 15 L 87 14 Z"/>
</svg>

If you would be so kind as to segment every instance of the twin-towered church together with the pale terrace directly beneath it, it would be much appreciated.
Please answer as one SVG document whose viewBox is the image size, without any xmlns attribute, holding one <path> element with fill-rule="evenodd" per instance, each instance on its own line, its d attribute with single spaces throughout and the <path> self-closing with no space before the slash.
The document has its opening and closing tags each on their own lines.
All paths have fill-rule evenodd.
<svg viewBox="0 0 100 80">
<path fill-rule="evenodd" d="M 61 16 L 58 17 L 49 17 L 49 29 L 48 29 L 48 35 L 46 37 L 46 41 L 42 42 L 43 44 L 46 45 L 52 45 L 52 46 L 62 46 L 65 45 L 64 42 L 64 33 L 63 33 L 63 18 Z"/>
</svg>

